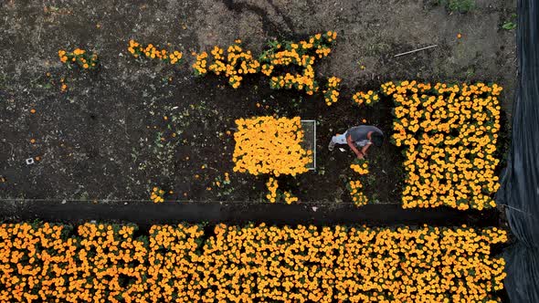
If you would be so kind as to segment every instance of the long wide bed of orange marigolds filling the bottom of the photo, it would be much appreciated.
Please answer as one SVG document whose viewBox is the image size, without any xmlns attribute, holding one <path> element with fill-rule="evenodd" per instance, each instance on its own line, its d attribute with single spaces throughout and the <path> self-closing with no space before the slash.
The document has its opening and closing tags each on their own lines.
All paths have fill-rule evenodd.
<svg viewBox="0 0 539 303">
<path fill-rule="evenodd" d="M 0 225 L 3 302 L 500 301 L 496 228 Z M 71 235 L 72 234 L 72 235 Z"/>
</svg>

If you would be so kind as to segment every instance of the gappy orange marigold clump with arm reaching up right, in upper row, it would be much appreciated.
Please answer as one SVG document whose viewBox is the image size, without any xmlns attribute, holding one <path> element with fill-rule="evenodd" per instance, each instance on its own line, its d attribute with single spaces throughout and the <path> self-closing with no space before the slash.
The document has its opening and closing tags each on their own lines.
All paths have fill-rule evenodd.
<svg viewBox="0 0 539 303">
<path fill-rule="evenodd" d="M 318 83 L 314 80 L 313 65 L 316 58 L 327 57 L 331 52 L 331 45 L 337 38 L 337 33 L 328 31 L 316 34 L 306 40 L 295 42 L 271 42 L 270 48 L 260 55 L 262 73 L 270 77 L 274 69 L 279 67 L 296 66 L 302 69 L 298 74 L 289 72 L 270 78 L 271 89 L 298 89 L 304 90 L 308 95 L 318 91 Z"/>
</svg>

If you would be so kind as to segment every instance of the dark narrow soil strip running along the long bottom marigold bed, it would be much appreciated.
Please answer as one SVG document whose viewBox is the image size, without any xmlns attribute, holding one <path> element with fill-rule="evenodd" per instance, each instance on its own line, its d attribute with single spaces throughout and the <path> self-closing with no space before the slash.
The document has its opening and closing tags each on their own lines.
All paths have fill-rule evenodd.
<svg viewBox="0 0 539 303">
<path fill-rule="evenodd" d="M 164 203 L 104 204 L 90 202 L 17 202 L 0 208 L 6 222 L 45 221 L 77 225 L 97 222 L 150 225 L 179 223 L 215 225 L 433 225 L 499 226 L 497 210 L 461 212 L 447 207 L 402 209 L 398 204 L 259 204 L 259 203 Z"/>
</svg>

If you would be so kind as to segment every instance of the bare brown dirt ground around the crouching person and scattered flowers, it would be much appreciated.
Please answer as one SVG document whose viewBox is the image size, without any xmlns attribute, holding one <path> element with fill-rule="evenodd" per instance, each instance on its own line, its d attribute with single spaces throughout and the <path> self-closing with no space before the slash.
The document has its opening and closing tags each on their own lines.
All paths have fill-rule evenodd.
<svg viewBox="0 0 539 303">
<path fill-rule="evenodd" d="M 353 174 L 353 154 L 330 153 L 328 141 L 362 119 L 387 132 L 391 127 L 389 105 L 358 110 L 351 106 L 354 90 L 398 79 L 496 82 L 511 112 L 515 33 L 502 24 L 515 12 L 515 1 L 478 0 L 467 14 L 436 2 L 2 1 L 0 198 L 139 200 L 161 186 L 174 191 L 167 199 L 259 200 L 265 178 L 232 173 L 230 185 L 214 183 L 232 172 L 234 141 L 227 131 L 234 131 L 234 120 L 277 113 L 318 121 L 318 169 L 282 185 L 301 201 L 349 201 L 344 180 Z M 237 38 L 259 52 L 272 38 L 326 30 L 339 37 L 316 66 L 317 77 L 343 78 L 343 98 L 331 108 L 320 95 L 271 90 L 266 78 L 248 78 L 231 89 L 222 78 L 196 78 L 190 68 L 192 51 Z M 185 52 L 186 62 L 171 68 L 134 60 L 127 52 L 131 38 L 170 44 Z M 438 47 L 394 57 L 430 45 Z M 99 70 L 63 66 L 58 49 L 75 47 L 97 52 Z M 39 161 L 26 165 L 32 157 Z M 398 202 L 399 151 L 386 144 L 371 161 L 367 194 L 378 203 Z"/>
</svg>

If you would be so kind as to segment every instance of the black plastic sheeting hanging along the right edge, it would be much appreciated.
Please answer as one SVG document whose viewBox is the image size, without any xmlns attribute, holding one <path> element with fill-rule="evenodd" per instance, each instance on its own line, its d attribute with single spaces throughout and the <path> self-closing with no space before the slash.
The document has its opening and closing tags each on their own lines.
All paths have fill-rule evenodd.
<svg viewBox="0 0 539 303">
<path fill-rule="evenodd" d="M 516 244 L 504 252 L 511 302 L 539 302 L 539 1 L 519 0 L 519 75 L 513 131 L 498 204 Z"/>
</svg>

